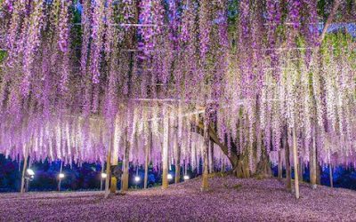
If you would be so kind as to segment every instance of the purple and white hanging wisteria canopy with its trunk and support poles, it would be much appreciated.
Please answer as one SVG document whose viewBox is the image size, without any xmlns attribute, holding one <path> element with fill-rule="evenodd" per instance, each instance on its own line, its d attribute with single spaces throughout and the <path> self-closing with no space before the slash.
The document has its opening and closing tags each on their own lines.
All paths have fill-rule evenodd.
<svg viewBox="0 0 356 222">
<path fill-rule="evenodd" d="M 129 163 L 166 187 L 170 164 L 200 159 L 206 189 L 209 141 L 239 177 L 300 160 L 315 185 L 320 165 L 355 164 L 352 1 L 0 3 L 7 156 L 122 159 L 123 190 Z"/>
</svg>

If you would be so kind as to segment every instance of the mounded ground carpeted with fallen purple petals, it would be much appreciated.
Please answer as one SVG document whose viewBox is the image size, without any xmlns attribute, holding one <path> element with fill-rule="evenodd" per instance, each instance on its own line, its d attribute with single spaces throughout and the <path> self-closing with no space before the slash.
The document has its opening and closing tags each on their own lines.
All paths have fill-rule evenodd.
<svg viewBox="0 0 356 222">
<path fill-rule="evenodd" d="M 0 194 L 0 221 L 356 221 L 356 192 L 301 186 L 301 199 L 271 179 L 191 179 L 167 190 Z"/>
</svg>

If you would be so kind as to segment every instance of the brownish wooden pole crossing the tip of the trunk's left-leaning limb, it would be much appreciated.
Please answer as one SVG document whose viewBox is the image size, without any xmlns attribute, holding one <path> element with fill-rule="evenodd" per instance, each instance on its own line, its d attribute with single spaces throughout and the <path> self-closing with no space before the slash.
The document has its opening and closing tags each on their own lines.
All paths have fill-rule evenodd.
<svg viewBox="0 0 356 222">
<path fill-rule="evenodd" d="M 207 115 L 207 113 L 206 113 Z M 209 149 L 209 121 L 207 119 L 207 117 L 205 117 L 204 119 L 204 147 L 203 147 L 203 181 L 202 181 L 202 185 L 201 185 L 201 190 L 205 191 L 208 188 L 208 181 L 207 181 L 207 177 L 209 174 L 209 170 L 208 170 L 208 157 L 207 157 L 207 153 L 208 153 L 208 149 Z"/>
</svg>

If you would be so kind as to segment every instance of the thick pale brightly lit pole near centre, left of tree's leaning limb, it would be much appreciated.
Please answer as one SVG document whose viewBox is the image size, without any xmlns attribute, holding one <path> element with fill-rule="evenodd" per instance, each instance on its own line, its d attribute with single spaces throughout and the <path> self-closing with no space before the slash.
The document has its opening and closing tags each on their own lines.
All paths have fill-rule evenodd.
<svg viewBox="0 0 356 222">
<path fill-rule="evenodd" d="M 162 189 L 168 188 L 168 137 L 169 137 L 169 113 L 168 108 L 164 107 L 163 118 L 163 152 L 162 152 Z"/>
</svg>

